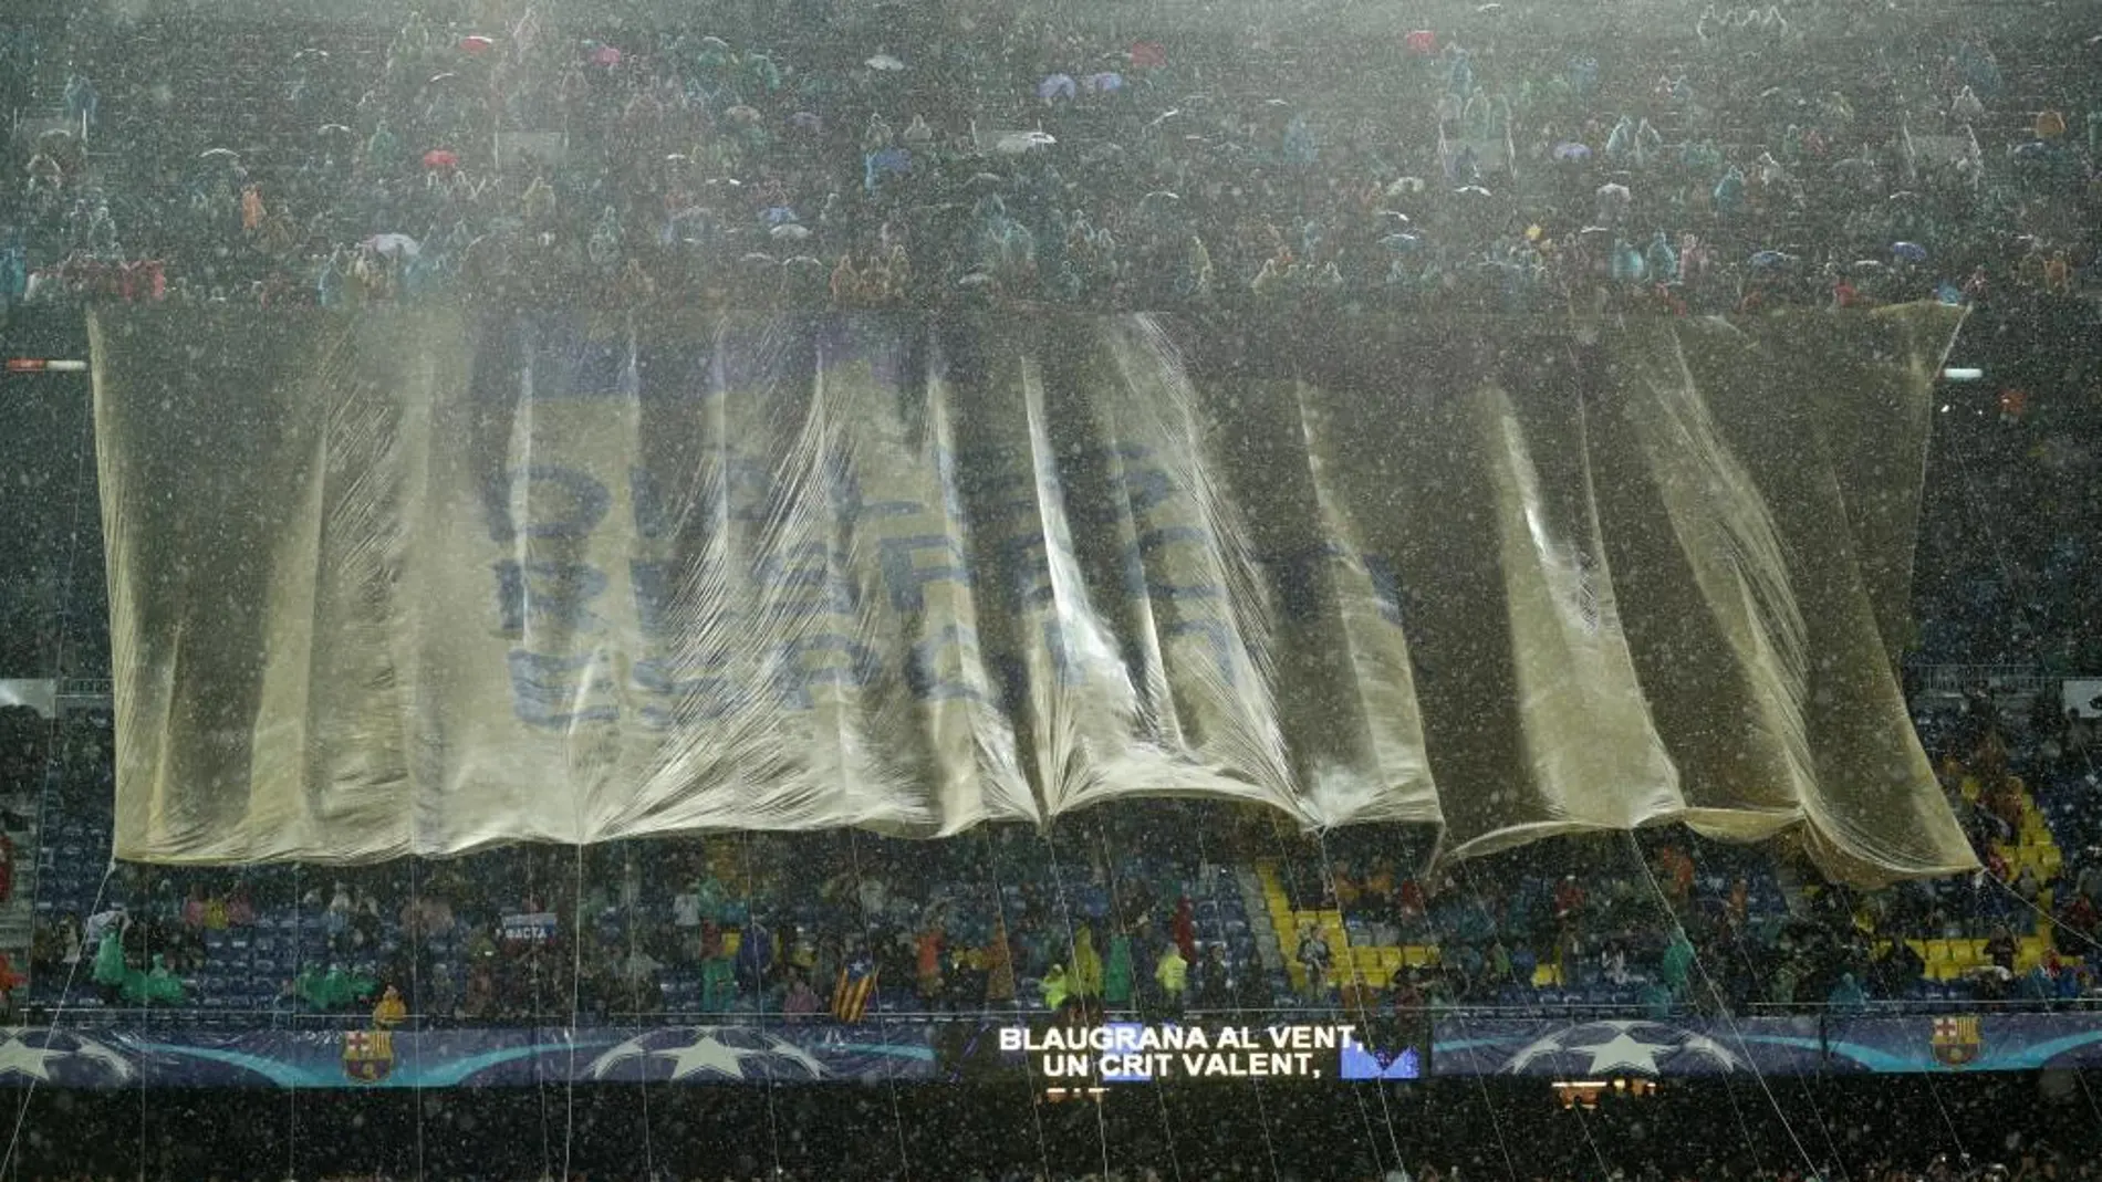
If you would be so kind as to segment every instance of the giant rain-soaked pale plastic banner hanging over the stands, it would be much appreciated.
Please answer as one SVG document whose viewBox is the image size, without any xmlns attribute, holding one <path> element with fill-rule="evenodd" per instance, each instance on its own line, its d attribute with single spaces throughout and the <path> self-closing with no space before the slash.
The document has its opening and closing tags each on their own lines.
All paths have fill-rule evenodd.
<svg viewBox="0 0 2102 1182">
<path fill-rule="evenodd" d="M 107 309 L 116 850 L 1190 794 L 1965 869 L 1890 647 L 1959 315 Z"/>
</svg>

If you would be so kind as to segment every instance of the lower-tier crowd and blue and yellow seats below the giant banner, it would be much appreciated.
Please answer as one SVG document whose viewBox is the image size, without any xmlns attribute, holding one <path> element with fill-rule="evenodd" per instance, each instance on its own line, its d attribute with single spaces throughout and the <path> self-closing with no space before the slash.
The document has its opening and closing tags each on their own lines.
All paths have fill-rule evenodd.
<svg viewBox="0 0 2102 1182">
<path fill-rule="evenodd" d="M 946 842 L 734 833 L 378 867 L 107 861 L 105 712 L 13 712 L 38 781 L 29 1006 L 204 1020 L 2085 1004 L 2102 911 L 2091 722 L 1925 703 L 1986 871 L 1858 892 L 1785 850 L 1570 838 L 1425 873 L 1429 836 L 1133 802 Z M 46 771 L 48 768 L 48 771 Z M 2035 787 L 2031 787 L 2035 785 Z M 101 869 L 107 865 L 107 871 Z"/>
</svg>

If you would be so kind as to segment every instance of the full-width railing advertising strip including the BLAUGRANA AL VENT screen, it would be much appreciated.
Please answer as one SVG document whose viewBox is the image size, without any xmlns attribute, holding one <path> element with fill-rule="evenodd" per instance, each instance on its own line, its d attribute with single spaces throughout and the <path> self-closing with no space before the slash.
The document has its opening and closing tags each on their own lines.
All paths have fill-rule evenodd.
<svg viewBox="0 0 2102 1182">
<path fill-rule="evenodd" d="M 1503 1018 L 1446 1014 L 1429 1048 L 1381 1022 L 982 1022 L 767 1027 L 6 1029 L 0 1088 L 523 1088 L 889 1083 L 1028 1077 L 1553 1079 L 2039 1071 L 2102 1064 L 2102 1014 Z M 1423 1052 L 1429 1054 L 1423 1054 Z"/>
</svg>

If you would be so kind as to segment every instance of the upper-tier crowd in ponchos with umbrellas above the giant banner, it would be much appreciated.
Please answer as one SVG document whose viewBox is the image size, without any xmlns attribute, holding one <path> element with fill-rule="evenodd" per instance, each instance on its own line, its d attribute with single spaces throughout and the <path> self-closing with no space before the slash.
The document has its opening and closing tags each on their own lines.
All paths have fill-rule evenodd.
<svg viewBox="0 0 2102 1182">
<path fill-rule="evenodd" d="M 23 23 L 0 302 L 2049 304 L 2094 42 L 1898 6 L 1572 40 L 805 4 L 765 38 Z M 2026 29 L 2026 31 L 2024 31 Z M 1818 52 L 1848 40 L 1867 55 Z M 63 61 L 61 61 L 63 55 Z M 44 124 L 36 124 L 44 126 Z"/>
</svg>

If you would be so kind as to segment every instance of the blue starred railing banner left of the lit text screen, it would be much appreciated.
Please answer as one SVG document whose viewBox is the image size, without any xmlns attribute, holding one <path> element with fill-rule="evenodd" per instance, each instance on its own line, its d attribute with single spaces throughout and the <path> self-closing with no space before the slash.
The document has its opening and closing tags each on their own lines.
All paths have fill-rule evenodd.
<svg viewBox="0 0 2102 1182">
<path fill-rule="evenodd" d="M 0 1085 L 521 1088 L 933 1077 L 929 1027 L 0 1031 Z"/>
</svg>

